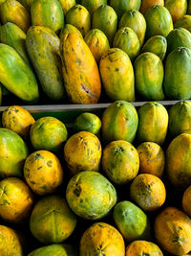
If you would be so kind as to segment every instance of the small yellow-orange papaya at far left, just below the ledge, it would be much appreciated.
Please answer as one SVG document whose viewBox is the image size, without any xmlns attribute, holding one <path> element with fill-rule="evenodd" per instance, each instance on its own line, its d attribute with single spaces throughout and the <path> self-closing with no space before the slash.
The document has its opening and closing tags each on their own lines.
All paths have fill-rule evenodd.
<svg viewBox="0 0 191 256">
<path fill-rule="evenodd" d="M 10 128 L 24 138 L 30 134 L 30 128 L 34 122 L 31 113 L 19 105 L 9 106 L 2 114 L 3 127 Z"/>
</svg>

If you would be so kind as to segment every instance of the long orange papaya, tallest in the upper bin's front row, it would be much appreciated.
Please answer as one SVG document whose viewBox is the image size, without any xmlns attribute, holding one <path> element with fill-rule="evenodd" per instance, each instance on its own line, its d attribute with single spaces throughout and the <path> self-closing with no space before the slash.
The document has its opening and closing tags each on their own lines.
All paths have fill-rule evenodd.
<svg viewBox="0 0 191 256">
<path fill-rule="evenodd" d="M 91 50 L 74 33 L 60 43 L 62 72 L 69 100 L 74 104 L 96 104 L 101 93 L 101 81 Z"/>
</svg>

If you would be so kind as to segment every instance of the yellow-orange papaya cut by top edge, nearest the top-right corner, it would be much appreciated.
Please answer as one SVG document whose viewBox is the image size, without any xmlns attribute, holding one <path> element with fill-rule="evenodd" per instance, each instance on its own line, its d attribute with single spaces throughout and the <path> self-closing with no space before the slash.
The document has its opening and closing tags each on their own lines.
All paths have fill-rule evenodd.
<svg viewBox="0 0 191 256">
<path fill-rule="evenodd" d="M 171 13 L 174 23 L 187 12 L 187 0 L 166 0 L 164 6 Z"/>
</svg>

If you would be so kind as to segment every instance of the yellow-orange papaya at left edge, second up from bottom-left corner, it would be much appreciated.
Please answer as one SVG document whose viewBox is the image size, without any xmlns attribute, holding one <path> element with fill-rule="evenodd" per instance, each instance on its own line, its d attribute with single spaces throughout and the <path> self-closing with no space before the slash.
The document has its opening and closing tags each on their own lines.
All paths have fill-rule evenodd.
<svg viewBox="0 0 191 256">
<path fill-rule="evenodd" d="M 4 178 L 0 192 L 0 217 L 4 221 L 19 223 L 30 216 L 33 197 L 25 182 L 17 177 Z"/>
</svg>

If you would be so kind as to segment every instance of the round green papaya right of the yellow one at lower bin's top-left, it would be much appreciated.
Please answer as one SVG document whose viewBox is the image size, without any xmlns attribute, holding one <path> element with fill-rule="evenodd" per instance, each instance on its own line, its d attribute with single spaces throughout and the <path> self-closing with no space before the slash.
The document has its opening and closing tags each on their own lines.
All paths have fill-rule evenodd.
<svg viewBox="0 0 191 256">
<path fill-rule="evenodd" d="M 65 125 L 53 116 L 39 118 L 30 130 L 34 150 L 60 151 L 67 137 Z"/>
</svg>

